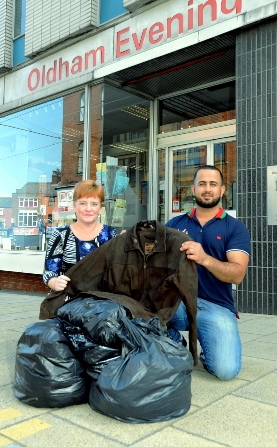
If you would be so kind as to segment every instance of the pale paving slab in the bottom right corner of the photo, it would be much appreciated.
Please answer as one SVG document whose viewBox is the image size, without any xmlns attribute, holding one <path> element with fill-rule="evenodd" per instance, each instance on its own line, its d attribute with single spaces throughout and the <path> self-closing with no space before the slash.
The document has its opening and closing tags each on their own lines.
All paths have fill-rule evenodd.
<svg viewBox="0 0 277 447">
<path fill-rule="evenodd" d="M 276 421 L 275 406 L 225 396 L 173 426 L 229 447 L 276 447 Z"/>
</svg>

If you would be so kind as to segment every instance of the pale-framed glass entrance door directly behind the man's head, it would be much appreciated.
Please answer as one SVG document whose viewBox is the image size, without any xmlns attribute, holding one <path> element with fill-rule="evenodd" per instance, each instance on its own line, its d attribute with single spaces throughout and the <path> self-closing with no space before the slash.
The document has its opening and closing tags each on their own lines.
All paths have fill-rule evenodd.
<svg viewBox="0 0 277 447">
<path fill-rule="evenodd" d="M 236 143 L 234 138 L 168 147 L 159 151 L 159 213 L 166 223 L 194 206 L 191 185 L 199 166 L 215 165 L 223 173 L 226 192 L 222 206 L 236 215 Z"/>
</svg>

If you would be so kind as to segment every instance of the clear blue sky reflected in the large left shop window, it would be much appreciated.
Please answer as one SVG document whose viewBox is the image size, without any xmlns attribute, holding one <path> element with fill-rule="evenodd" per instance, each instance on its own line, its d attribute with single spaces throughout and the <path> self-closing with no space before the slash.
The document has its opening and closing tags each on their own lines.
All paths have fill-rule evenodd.
<svg viewBox="0 0 277 447">
<path fill-rule="evenodd" d="M 63 99 L 0 118 L 0 197 L 61 169 Z"/>
</svg>

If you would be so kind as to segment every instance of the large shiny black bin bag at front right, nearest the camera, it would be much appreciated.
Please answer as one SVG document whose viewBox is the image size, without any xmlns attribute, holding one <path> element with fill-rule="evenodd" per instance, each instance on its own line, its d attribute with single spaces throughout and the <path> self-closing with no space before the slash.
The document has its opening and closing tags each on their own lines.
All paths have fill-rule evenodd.
<svg viewBox="0 0 277 447">
<path fill-rule="evenodd" d="M 122 323 L 118 336 L 125 349 L 92 383 L 91 408 L 133 423 L 184 415 L 191 405 L 191 353 L 165 335 L 157 317 Z"/>
</svg>

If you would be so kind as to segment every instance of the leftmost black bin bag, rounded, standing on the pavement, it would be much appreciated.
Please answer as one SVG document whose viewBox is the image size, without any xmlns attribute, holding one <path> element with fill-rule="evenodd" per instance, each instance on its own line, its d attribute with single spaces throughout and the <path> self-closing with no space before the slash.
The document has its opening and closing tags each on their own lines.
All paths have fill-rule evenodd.
<svg viewBox="0 0 277 447">
<path fill-rule="evenodd" d="M 30 324 L 15 360 L 15 396 L 23 403 L 61 408 L 88 402 L 90 381 L 58 318 Z"/>
</svg>

